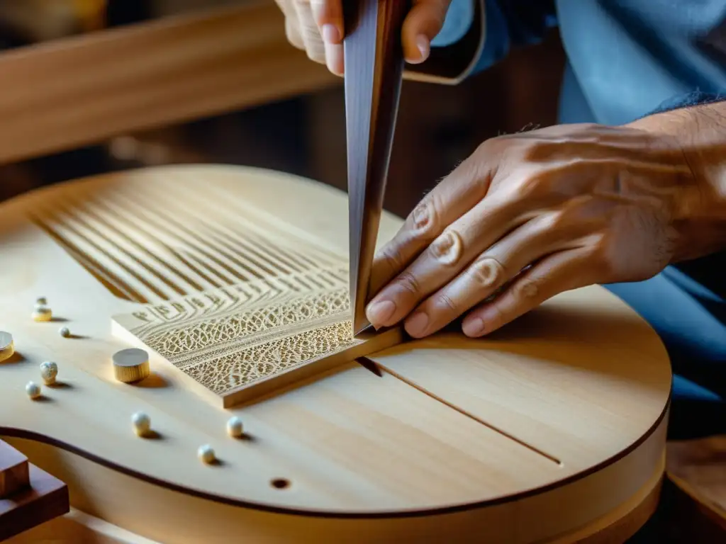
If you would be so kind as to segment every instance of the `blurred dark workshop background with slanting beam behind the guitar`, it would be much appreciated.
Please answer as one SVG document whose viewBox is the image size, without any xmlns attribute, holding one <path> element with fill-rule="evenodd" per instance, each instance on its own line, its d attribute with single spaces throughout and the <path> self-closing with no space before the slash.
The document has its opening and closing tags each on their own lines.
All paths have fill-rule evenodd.
<svg viewBox="0 0 726 544">
<path fill-rule="evenodd" d="M 0 201 L 185 162 L 344 189 L 342 80 L 313 64 L 273 0 L 1 0 Z M 406 215 L 484 139 L 555 123 L 562 71 L 555 31 L 459 86 L 404 82 L 386 208 Z"/>
</svg>

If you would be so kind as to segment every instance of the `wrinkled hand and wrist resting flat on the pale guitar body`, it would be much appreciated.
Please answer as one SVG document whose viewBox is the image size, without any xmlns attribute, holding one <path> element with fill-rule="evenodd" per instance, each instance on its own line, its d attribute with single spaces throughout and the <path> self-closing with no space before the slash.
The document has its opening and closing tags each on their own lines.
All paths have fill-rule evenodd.
<svg viewBox="0 0 726 544">
<path fill-rule="evenodd" d="M 369 321 L 424 337 L 466 314 L 464 333 L 479 337 L 568 289 L 648 279 L 724 247 L 726 122 L 709 132 L 695 111 L 484 142 L 375 257 Z"/>
</svg>

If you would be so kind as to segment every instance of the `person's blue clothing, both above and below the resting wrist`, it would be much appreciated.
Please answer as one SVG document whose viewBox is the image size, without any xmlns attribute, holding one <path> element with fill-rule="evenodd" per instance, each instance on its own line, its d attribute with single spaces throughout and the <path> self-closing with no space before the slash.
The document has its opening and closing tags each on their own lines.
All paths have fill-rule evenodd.
<svg viewBox="0 0 726 544">
<path fill-rule="evenodd" d="M 478 1 L 478 0 L 476 0 Z M 561 123 L 629 123 L 726 99 L 726 0 L 484 0 L 485 70 L 555 25 L 568 57 Z M 432 46 L 459 40 L 473 0 L 452 0 Z M 726 254 L 606 286 L 664 340 L 674 370 L 669 437 L 726 432 Z M 678 308 L 677 312 L 673 308 Z"/>
</svg>

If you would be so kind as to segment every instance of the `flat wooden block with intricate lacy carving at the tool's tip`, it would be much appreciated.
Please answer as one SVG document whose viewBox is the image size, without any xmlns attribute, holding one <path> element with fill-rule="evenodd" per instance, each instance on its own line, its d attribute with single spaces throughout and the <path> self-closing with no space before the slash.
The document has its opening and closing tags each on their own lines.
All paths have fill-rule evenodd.
<svg viewBox="0 0 726 544">
<path fill-rule="evenodd" d="M 347 277 L 320 269 L 144 305 L 114 316 L 114 332 L 229 407 L 400 342 L 399 331 L 354 339 Z"/>
</svg>

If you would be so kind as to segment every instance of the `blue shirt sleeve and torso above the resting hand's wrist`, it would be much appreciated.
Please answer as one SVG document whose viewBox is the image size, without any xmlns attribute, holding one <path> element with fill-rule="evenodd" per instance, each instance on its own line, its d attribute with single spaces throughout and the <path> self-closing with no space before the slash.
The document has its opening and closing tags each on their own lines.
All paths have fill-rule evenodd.
<svg viewBox="0 0 726 544">
<path fill-rule="evenodd" d="M 726 0 L 485 0 L 476 71 L 558 26 L 568 57 L 560 122 L 618 125 L 693 91 L 726 94 Z M 457 41 L 472 0 L 452 0 L 433 41 Z M 688 103 L 688 99 L 684 99 Z"/>
</svg>

